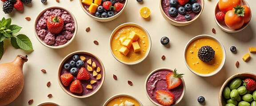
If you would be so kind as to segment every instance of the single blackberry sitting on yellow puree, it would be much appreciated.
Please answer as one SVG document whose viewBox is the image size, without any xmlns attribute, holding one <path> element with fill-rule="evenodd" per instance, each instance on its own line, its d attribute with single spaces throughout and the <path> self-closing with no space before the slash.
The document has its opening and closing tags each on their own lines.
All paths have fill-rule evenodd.
<svg viewBox="0 0 256 106">
<path fill-rule="evenodd" d="M 208 45 L 202 46 L 197 53 L 197 57 L 206 63 L 210 62 L 214 58 L 214 55 L 215 51 Z"/>
</svg>

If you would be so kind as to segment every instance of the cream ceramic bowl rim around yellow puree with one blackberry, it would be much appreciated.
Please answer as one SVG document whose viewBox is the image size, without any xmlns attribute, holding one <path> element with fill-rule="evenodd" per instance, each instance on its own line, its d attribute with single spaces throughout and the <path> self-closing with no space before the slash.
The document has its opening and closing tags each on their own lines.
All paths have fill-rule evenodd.
<svg viewBox="0 0 256 106">
<path fill-rule="evenodd" d="M 220 64 L 219 68 L 217 68 L 214 72 L 211 72 L 211 73 L 209 73 L 209 74 L 200 74 L 200 73 L 196 72 L 195 70 L 193 70 L 192 68 L 190 68 L 190 66 L 188 65 L 188 62 L 187 62 L 187 60 L 186 60 L 186 50 L 188 49 L 188 46 L 189 46 L 193 41 L 195 41 L 196 39 L 199 39 L 199 38 L 210 38 L 210 39 L 213 39 L 214 41 L 216 41 L 216 42 L 220 45 L 220 47 L 221 47 L 221 49 L 222 49 L 223 57 L 222 57 L 222 61 L 221 61 L 221 64 Z M 208 45 L 208 43 L 205 43 L 205 45 Z M 197 52 L 196 52 L 196 54 L 197 54 Z M 198 58 L 198 57 L 196 57 L 196 58 Z M 184 49 L 184 60 L 185 60 L 185 64 L 187 65 L 188 69 L 189 69 L 191 72 L 193 72 L 194 74 L 196 74 L 196 75 L 198 75 L 198 76 L 203 76 L 203 77 L 213 76 L 213 75 L 215 75 L 216 73 L 220 72 L 221 68 L 224 66 L 224 63 L 225 63 L 225 61 L 226 61 L 226 50 L 225 50 L 225 48 L 224 48 L 224 45 L 223 45 L 217 38 L 215 38 L 215 37 L 213 37 L 213 36 L 210 36 L 210 35 L 206 35 L 206 34 L 198 35 L 198 36 L 196 36 L 196 37 L 194 37 L 194 38 L 192 38 L 191 40 L 188 41 L 188 43 L 187 43 L 187 45 L 186 45 L 186 47 L 185 47 L 185 49 Z"/>
</svg>

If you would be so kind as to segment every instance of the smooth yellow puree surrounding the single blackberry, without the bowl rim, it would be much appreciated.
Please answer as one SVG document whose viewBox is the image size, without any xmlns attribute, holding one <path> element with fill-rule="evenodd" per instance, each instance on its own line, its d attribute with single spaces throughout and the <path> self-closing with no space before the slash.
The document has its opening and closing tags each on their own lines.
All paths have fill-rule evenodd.
<svg viewBox="0 0 256 106">
<path fill-rule="evenodd" d="M 214 49 L 215 51 L 214 58 L 208 63 L 201 61 L 197 57 L 198 50 L 204 45 L 211 46 L 212 49 Z M 217 68 L 220 67 L 222 58 L 223 53 L 220 45 L 218 44 L 218 42 L 210 38 L 196 39 L 190 45 L 188 45 L 188 48 L 186 50 L 186 61 L 188 63 L 188 66 L 192 68 L 192 70 L 200 74 L 209 74 L 211 72 L 214 72 Z"/>
</svg>

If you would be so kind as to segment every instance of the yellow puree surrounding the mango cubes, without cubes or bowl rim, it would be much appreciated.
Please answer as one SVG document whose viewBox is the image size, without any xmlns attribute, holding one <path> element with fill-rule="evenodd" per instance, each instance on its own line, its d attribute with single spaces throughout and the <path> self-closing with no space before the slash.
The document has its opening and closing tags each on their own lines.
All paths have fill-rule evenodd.
<svg viewBox="0 0 256 106">
<path fill-rule="evenodd" d="M 129 49 L 130 52 L 125 56 L 118 51 L 123 46 L 120 44 L 119 38 L 122 38 L 122 37 L 128 38 L 130 33 L 132 32 L 132 30 L 140 35 L 140 38 L 137 40 L 140 45 L 140 52 L 134 53 L 132 46 L 131 46 Z M 118 59 L 120 59 L 121 61 L 124 61 L 124 62 L 134 62 L 134 61 L 138 61 L 141 58 L 143 58 L 145 56 L 145 54 L 147 53 L 148 45 L 149 45 L 148 37 L 147 37 L 146 33 L 143 30 L 141 30 L 140 28 L 135 27 L 135 26 L 121 27 L 119 30 L 116 31 L 116 33 L 113 35 L 112 40 L 111 40 L 111 47 L 112 47 L 112 51 L 113 51 L 114 55 Z"/>
</svg>

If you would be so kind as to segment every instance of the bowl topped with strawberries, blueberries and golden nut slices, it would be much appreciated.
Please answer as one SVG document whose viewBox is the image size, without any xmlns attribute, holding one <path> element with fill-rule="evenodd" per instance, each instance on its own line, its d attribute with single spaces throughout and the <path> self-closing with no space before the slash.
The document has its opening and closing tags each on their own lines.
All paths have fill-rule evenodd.
<svg viewBox="0 0 256 106">
<path fill-rule="evenodd" d="M 58 69 L 60 87 L 76 98 L 86 98 L 97 91 L 104 83 L 105 69 L 98 57 L 86 51 L 68 54 Z"/>
</svg>

